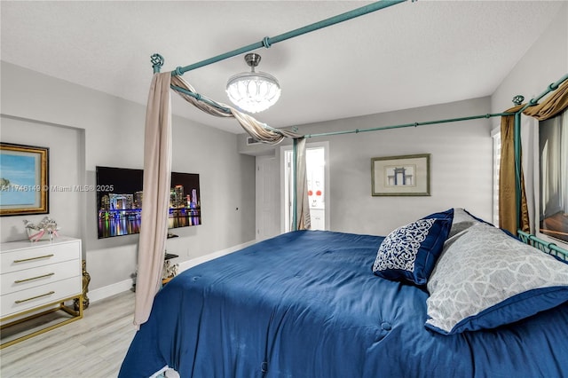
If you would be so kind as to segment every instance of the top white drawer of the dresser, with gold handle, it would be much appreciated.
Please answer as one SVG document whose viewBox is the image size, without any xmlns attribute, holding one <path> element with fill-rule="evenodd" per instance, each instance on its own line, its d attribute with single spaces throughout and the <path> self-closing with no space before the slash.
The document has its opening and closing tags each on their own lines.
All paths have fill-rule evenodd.
<svg viewBox="0 0 568 378">
<path fill-rule="evenodd" d="M 30 243 L 31 244 L 31 243 Z M 56 264 L 81 258 L 81 242 L 44 244 L 29 248 L 12 249 L 1 255 L 1 272 L 17 272 L 45 264 Z M 81 268 L 79 268 L 81 272 Z M 4 291 L 4 289 L 3 289 Z"/>
</svg>

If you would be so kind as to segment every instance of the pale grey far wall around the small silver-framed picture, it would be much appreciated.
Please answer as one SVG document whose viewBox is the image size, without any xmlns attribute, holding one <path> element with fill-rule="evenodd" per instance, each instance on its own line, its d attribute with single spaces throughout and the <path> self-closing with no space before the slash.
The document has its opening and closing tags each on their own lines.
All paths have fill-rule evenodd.
<svg viewBox="0 0 568 378">
<path fill-rule="evenodd" d="M 371 129 L 380 126 L 489 113 L 490 99 L 476 98 L 438 106 L 371 114 L 298 126 L 298 132 Z M 397 130 L 310 138 L 329 142 L 330 230 L 386 235 L 418 217 L 450 208 L 492 216 L 493 140 L 485 118 Z M 242 139 L 240 136 L 240 146 Z M 258 154 L 257 148 L 252 152 Z M 265 152 L 264 152 L 265 153 Z M 431 154 L 430 193 L 420 197 L 373 197 L 371 158 Z M 276 150 L 280 161 L 280 148 Z M 280 176 L 275 177 L 280 182 Z M 280 185 L 281 187 L 281 185 Z M 280 214 L 278 215 L 280 217 Z"/>
</svg>

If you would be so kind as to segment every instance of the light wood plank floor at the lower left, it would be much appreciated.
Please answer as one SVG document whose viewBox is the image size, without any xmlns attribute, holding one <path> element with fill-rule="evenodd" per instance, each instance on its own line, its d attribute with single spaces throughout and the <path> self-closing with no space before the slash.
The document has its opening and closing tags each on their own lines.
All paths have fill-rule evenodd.
<svg viewBox="0 0 568 378">
<path fill-rule="evenodd" d="M 116 377 L 136 333 L 134 293 L 91 303 L 83 319 L 0 350 L 2 378 Z"/>
</svg>

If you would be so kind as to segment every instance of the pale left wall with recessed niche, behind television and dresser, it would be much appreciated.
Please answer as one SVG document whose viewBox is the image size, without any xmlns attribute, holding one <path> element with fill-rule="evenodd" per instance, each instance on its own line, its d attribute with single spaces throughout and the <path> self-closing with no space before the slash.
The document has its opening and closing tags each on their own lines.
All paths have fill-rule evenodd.
<svg viewBox="0 0 568 378">
<path fill-rule="evenodd" d="M 143 168 L 146 106 L 6 62 L 1 75 L 0 139 L 49 146 L 51 185 L 92 185 L 98 165 Z M 200 174 L 203 221 L 168 241 L 177 262 L 254 240 L 255 159 L 237 153 L 235 135 L 175 116 L 173 138 L 172 169 Z M 94 192 L 51 199 L 61 233 L 83 240 L 90 289 L 129 280 L 138 235 L 98 240 Z M 24 218 L 0 218 L 0 241 L 24 239 Z"/>
</svg>

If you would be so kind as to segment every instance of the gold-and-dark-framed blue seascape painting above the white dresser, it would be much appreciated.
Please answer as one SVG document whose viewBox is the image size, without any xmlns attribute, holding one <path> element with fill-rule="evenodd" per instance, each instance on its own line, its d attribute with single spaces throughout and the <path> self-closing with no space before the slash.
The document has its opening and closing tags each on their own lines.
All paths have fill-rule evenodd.
<svg viewBox="0 0 568 378">
<path fill-rule="evenodd" d="M 0 217 L 49 213 L 49 148 L 0 143 Z"/>
</svg>

